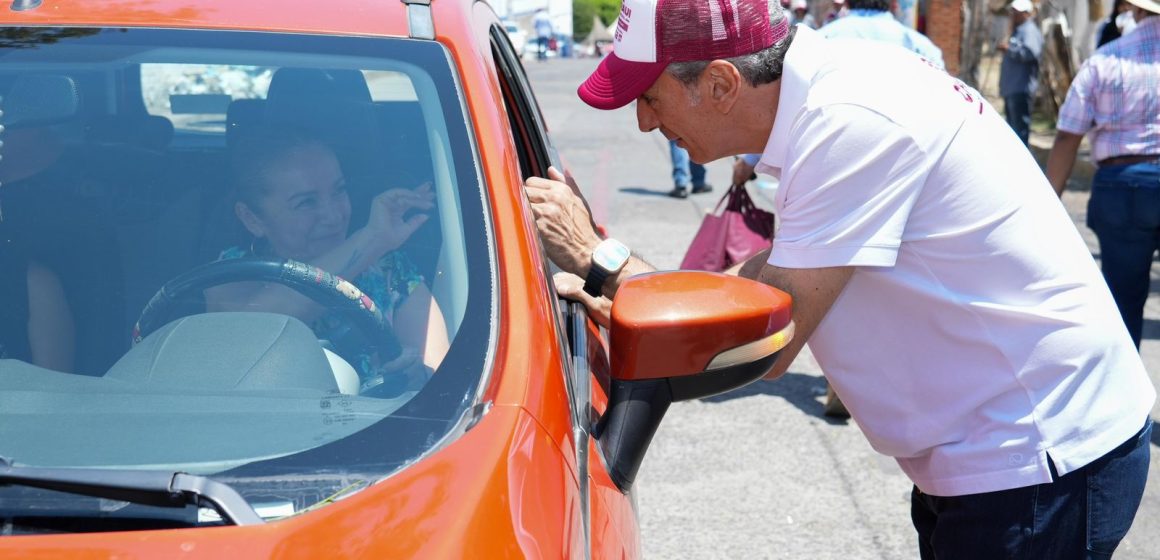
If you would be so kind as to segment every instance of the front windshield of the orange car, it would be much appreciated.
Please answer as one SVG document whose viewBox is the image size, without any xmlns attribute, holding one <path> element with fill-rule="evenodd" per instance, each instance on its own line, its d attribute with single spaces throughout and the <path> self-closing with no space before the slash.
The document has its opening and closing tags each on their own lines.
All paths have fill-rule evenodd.
<svg viewBox="0 0 1160 560">
<path fill-rule="evenodd" d="M 7 28 L 0 93 L 3 461 L 281 517 L 465 429 L 494 267 L 443 46 Z M 218 522 L 0 482 L 0 517 L 32 510 Z"/>
</svg>

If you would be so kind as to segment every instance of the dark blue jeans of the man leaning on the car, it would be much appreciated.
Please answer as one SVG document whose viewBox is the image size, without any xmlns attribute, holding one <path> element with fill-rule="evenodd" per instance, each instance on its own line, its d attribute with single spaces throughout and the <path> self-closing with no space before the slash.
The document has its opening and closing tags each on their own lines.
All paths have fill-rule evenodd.
<svg viewBox="0 0 1160 560">
<path fill-rule="evenodd" d="M 1109 559 L 1128 534 L 1148 475 L 1152 420 L 1118 448 L 1053 481 L 940 497 L 911 493 L 922 560 Z"/>
</svg>

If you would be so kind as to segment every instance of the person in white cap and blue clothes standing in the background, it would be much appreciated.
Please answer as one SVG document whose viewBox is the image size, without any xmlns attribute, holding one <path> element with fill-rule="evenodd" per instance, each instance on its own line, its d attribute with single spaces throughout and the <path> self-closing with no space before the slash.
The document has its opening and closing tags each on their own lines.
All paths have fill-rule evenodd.
<svg viewBox="0 0 1160 560">
<path fill-rule="evenodd" d="M 1039 88 L 1039 57 L 1043 54 L 1043 32 L 1035 23 L 1031 0 L 1015 0 L 1010 5 L 1012 36 L 995 46 L 1003 53 L 999 67 L 999 95 L 1003 97 L 1007 124 L 1028 145 L 1031 137 L 1031 101 Z"/>
</svg>

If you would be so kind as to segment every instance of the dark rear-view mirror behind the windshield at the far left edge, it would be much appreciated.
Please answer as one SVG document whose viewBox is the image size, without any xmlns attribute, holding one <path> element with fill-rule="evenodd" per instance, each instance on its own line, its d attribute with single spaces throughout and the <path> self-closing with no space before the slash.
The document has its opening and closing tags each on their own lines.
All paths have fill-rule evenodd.
<svg viewBox="0 0 1160 560">
<path fill-rule="evenodd" d="M 67 75 L 27 74 L 3 96 L 3 124 L 8 128 L 37 126 L 67 121 L 77 115 L 80 95 Z"/>
</svg>

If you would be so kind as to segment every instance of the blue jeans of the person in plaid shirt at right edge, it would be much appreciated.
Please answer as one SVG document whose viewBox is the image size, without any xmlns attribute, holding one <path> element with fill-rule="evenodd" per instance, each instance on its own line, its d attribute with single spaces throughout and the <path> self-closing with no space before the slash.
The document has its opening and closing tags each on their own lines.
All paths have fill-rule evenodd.
<svg viewBox="0 0 1160 560">
<path fill-rule="evenodd" d="M 1140 347 L 1152 257 L 1160 249 L 1160 163 L 1103 166 L 1092 180 L 1087 225 L 1124 325 Z"/>
</svg>

